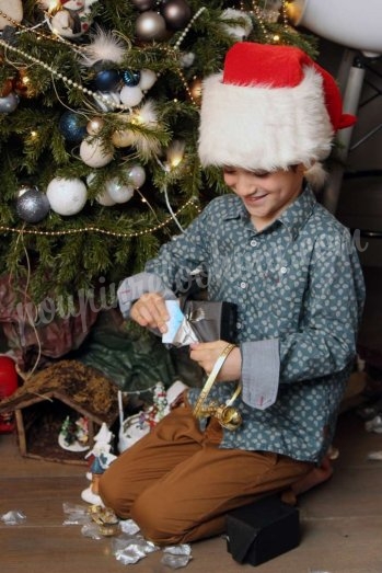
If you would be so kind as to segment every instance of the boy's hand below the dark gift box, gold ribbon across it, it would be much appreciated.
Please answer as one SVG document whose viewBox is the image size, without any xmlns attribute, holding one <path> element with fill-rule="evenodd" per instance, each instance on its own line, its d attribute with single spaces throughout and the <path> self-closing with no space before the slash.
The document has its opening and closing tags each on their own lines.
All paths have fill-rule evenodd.
<svg viewBox="0 0 382 573">
<path fill-rule="evenodd" d="M 216 342 L 198 342 L 190 344 L 189 356 L 193 360 L 197 362 L 199 366 L 209 375 L 213 368 L 215 363 L 223 352 L 228 342 L 216 341 Z M 230 352 L 225 362 L 218 375 L 217 380 L 224 382 L 230 380 L 239 380 L 242 370 L 242 357 L 239 346 Z"/>
</svg>

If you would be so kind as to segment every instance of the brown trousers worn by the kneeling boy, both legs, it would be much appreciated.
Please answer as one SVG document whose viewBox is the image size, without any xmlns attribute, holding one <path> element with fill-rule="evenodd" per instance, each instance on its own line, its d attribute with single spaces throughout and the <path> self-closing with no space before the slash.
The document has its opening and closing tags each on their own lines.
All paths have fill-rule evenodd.
<svg viewBox="0 0 382 573">
<path fill-rule="evenodd" d="M 200 432 L 189 405 L 173 410 L 123 452 L 100 480 L 100 495 L 158 545 L 224 531 L 225 514 L 287 489 L 313 465 L 264 451 L 219 448 L 215 419 Z"/>
</svg>

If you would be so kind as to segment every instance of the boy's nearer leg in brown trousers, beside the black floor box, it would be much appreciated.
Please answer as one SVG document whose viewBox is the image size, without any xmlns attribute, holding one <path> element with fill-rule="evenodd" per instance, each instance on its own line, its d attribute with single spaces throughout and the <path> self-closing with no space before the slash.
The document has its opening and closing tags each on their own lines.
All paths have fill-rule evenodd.
<svg viewBox="0 0 382 573">
<path fill-rule="evenodd" d="M 147 539 L 175 545 L 222 534 L 227 512 L 288 488 L 313 467 L 271 452 L 219 448 L 220 437 L 212 421 L 202 447 L 136 498 L 131 517 Z"/>
</svg>

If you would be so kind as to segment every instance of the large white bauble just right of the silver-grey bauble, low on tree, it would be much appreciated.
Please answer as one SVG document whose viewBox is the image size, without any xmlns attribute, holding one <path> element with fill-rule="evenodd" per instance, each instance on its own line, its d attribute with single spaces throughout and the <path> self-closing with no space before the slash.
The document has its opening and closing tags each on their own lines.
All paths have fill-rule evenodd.
<svg viewBox="0 0 382 573">
<path fill-rule="evenodd" d="M 86 185 L 80 179 L 55 177 L 46 190 L 50 208 L 58 215 L 76 215 L 86 203 Z"/>
</svg>

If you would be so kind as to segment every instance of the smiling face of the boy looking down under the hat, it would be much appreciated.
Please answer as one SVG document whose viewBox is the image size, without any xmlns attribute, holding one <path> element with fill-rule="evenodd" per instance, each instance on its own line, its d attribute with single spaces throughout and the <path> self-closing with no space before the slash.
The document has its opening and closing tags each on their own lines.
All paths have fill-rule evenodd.
<svg viewBox="0 0 382 573">
<path fill-rule="evenodd" d="M 223 168 L 225 185 L 242 199 L 257 231 L 277 219 L 300 195 L 303 172 L 303 164 L 271 173 Z"/>
</svg>

